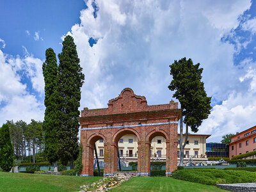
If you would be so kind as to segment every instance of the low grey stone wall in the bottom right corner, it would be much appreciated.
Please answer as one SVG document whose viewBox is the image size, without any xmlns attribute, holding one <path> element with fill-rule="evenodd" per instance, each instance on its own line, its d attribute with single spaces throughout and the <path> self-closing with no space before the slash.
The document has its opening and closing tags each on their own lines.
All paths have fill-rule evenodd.
<svg viewBox="0 0 256 192">
<path fill-rule="evenodd" d="M 237 184 L 218 184 L 218 188 L 235 192 L 251 192 L 256 191 L 256 183 L 237 183 Z"/>
</svg>

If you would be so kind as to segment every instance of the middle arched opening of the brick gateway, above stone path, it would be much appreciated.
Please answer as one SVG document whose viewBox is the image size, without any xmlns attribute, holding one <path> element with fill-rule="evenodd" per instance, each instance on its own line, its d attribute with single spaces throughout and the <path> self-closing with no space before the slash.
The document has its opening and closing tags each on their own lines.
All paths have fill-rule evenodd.
<svg viewBox="0 0 256 192">
<path fill-rule="evenodd" d="M 117 163 L 115 168 L 118 171 L 132 170 L 134 166 L 130 162 L 138 162 L 138 137 L 132 130 L 118 132 L 115 137 Z"/>
</svg>

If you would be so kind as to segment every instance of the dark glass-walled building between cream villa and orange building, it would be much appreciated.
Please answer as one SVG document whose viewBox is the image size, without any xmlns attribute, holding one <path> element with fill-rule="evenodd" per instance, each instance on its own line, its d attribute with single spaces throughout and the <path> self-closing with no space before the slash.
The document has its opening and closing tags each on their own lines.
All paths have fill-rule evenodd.
<svg viewBox="0 0 256 192">
<path fill-rule="evenodd" d="M 207 157 L 229 157 L 228 145 L 223 143 L 206 143 Z"/>
</svg>

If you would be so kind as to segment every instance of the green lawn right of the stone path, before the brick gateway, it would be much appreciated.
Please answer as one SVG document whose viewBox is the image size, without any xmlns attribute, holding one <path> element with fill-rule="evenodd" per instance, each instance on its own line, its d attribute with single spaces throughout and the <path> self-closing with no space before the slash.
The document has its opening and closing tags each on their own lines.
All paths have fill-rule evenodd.
<svg viewBox="0 0 256 192">
<path fill-rule="evenodd" d="M 170 177 L 135 177 L 123 182 L 117 188 L 111 189 L 111 192 L 117 191 L 225 191 L 216 186 L 207 186 L 195 182 L 172 179 Z"/>
</svg>

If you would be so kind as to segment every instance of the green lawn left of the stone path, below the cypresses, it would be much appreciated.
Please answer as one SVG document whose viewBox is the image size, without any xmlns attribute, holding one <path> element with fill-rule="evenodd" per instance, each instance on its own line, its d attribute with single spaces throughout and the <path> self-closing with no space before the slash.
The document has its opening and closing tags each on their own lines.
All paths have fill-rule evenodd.
<svg viewBox="0 0 256 192">
<path fill-rule="evenodd" d="M 101 178 L 0 172 L 0 191 L 79 191 Z"/>
</svg>

